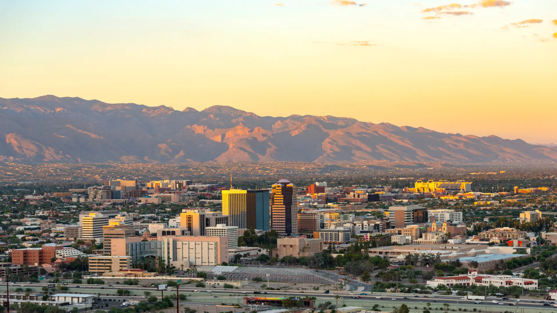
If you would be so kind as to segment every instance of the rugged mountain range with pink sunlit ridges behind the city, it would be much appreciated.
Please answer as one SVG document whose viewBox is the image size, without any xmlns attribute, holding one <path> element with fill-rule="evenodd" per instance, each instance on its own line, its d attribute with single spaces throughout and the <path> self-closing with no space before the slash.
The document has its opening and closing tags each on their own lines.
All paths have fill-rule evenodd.
<svg viewBox="0 0 557 313">
<path fill-rule="evenodd" d="M 554 161 L 557 147 L 335 116 L 258 116 L 230 106 L 0 98 L 0 159 L 62 163 Z"/>
</svg>

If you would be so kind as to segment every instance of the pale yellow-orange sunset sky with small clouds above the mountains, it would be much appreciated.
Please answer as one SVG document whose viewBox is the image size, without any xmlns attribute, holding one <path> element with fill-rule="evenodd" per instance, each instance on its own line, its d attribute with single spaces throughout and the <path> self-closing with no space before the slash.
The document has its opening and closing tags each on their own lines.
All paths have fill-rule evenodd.
<svg viewBox="0 0 557 313">
<path fill-rule="evenodd" d="M 555 34 L 555 35 L 554 35 Z M 3 1 L 0 97 L 557 143 L 557 1 Z"/>
</svg>

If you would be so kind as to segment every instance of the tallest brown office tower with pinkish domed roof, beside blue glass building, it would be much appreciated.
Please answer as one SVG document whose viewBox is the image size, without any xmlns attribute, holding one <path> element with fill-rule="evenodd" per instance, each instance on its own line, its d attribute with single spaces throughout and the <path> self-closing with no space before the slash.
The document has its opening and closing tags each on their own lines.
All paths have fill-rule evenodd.
<svg viewBox="0 0 557 313">
<path fill-rule="evenodd" d="M 281 236 L 298 234 L 296 186 L 286 179 L 278 180 L 271 189 L 271 229 Z"/>
</svg>

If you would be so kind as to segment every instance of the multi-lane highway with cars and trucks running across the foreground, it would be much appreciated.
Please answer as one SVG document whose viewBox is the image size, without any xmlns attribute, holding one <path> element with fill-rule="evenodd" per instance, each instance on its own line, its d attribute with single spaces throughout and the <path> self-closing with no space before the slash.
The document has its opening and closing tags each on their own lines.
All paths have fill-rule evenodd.
<svg viewBox="0 0 557 313">
<path fill-rule="evenodd" d="M 47 283 L 15 283 L 10 284 L 10 292 L 14 292 L 17 287 L 23 288 L 32 288 L 34 292 L 42 292 L 41 288 L 43 286 L 48 285 Z M 81 294 L 101 294 L 101 299 L 141 299 L 141 296 L 145 297 L 144 292 L 149 291 L 150 295 L 152 296 L 160 296 L 160 291 L 157 291 L 153 287 L 137 287 L 137 286 L 123 286 L 120 284 L 112 284 L 113 287 L 108 287 L 109 285 L 99 285 L 99 286 L 92 286 L 86 284 L 69 284 L 66 287 L 69 288 L 68 291 L 62 292 L 72 292 L 72 293 L 81 293 Z M 81 286 L 77 288 L 76 286 Z M 104 289 L 101 289 L 104 287 Z M 0 285 L 0 291 L 5 291 L 6 284 L 2 283 Z M 130 296 L 116 296 L 116 290 L 118 288 L 123 288 L 124 290 L 129 290 Z M 197 290 L 197 292 L 196 292 Z M 211 291 L 211 292 L 208 292 Z M 267 292 L 267 295 L 254 295 L 253 291 L 261 291 Z M 60 291 L 56 291 L 58 293 Z M 471 310 L 473 308 L 485 310 L 485 311 L 506 311 L 512 310 L 515 311 L 517 308 L 527 308 L 527 309 L 536 309 L 536 310 L 553 310 L 553 304 L 550 306 L 544 306 L 543 304 L 539 303 L 541 300 L 530 300 L 530 299 L 520 299 L 518 302 L 518 306 L 513 306 L 512 309 L 509 307 L 509 304 L 515 303 L 515 299 L 509 299 L 507 301 L 502 301 L 500 298 L 496 297 L 487 297 L 486 301 L 482 301 L 481 304 L 475 305 L 473 304 L 473 300 L 462 300 L 461 296 L 446 296 L 446 295 L 427 295 L 428 297 L 425 298 L 424 295 L 413 295 L 413 294 L 392 294 L 392 293 L 374 293 L 371 294 L 370 292 L 363 292 L 366 295 L 360 295 L 361 292 L 356 291 L 330 291 L 330 294 L 324 294 L 324 291 L 314 291 L 314 290 L 304 290 L 304 291 L 277 291 L 277 290 L 255 290 L 252 288 L 249 289 L 230 289 L 224 290 L 223 288 L 196 288 L 194 284 L 183 285 L 179 288 L 180 294 L 185 294 L 188 296 L 188 303 L 189 302 L 213 302 L 213 303 L 236 303 L 242 304 L 243 297 L 285 297 L 285 296 L 311 296 L 316 297 L 316 304 L 323 303 L 325 301 L 331 301 L 333 303 L 336 302 L 334 297 L 336 295 L 340 295 L 341 299 L 339 300 L 339 306 L 346 304 L 348 306 L 364 306 L 364 307 L 372 307 L 374 304 L 378 304 L 379 306 L 383 307 L 393 307 L 399 306 L 400 304 L 404 303 L 407 304 L 409 307 L 418 307 L 418 309 L 422 309 L 426 306 L 429 302 L 432 308 L 438 307 L 442 308 L 443 304 L 449 304 L 450 308 L 461 308 L 461 309 L 468 309 Z M 51 293 L 52 294 L 52 293 Z M 108 295 L 107 295 L 108 294 Z M 176 289 L 170 289 L 164 291 L 164 295 L 175 295 Z M 353 299 L 350 297 L 360 296 L 360 299 Z M 379 299 L 383 297 L 384 299 Z M 407 297 L 408 299 L 404 299 Z M 395 299 L 395 300 L 392 300 Z M 504 304 L 492 304 L 492 300 L 501 300 Z M 437 302 L 435 302 L 437 301 Z M 538 303 L 531 303 L 531 301 L 536 301 Z M 546 301 L 548 302 L 548 301 Z M 553 310 L 554 311 L 554 310 Z M 520 312 L 520 311 L 517 311 Z"/>
</svg>

